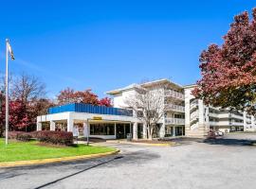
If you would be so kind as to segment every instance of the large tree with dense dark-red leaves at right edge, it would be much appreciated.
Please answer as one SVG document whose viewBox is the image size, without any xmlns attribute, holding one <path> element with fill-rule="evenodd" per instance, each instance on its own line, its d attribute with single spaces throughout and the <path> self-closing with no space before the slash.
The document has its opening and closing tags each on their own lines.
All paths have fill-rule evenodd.
<svg viewBox="0 0 256 189">
<path fill-rule="evenodd" d="M 234 17 L 222 45 L 200 56 L 202 78 L 192 92 L 207 104 L 256 114 L 256 9 Z"/>
</svg>

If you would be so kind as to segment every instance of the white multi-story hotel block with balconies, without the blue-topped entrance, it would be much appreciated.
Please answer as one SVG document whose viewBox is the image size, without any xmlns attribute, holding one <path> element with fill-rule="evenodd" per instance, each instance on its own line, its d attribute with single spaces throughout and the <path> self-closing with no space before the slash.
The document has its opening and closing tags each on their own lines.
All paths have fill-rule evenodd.
<svg viewBox="0 0 256 189">
<path fill-rule="evenodd" d="M 209 130 L 223 132 L 256 130 L 255 118 L 246 112 L 206 106 L 201 99 L 195 99 L 192 90 L 196 85 L 181 86 L 169 79 L 159 79 L 140 84 L 148 90 L 160 89 L 167 110 L 159 122 L 159 137 L 205 136 Z M 137 84 L 108 92 L 114 106 L 124 108 L 124 99 L 136 93 Z M 156 130 L 157 131 L 157 130 Z"/>
</svg>

